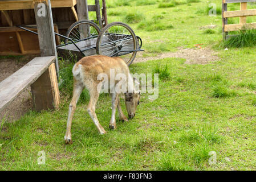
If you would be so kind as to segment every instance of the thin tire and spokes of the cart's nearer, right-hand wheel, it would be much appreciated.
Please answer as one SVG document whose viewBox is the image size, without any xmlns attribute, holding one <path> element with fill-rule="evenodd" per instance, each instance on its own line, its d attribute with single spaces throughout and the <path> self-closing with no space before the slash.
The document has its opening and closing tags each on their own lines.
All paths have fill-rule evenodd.
<svg viewBox="0 0 256 182">
<path fill-rule="evenodd" d="M 96 42 L 96 53 L 97 53 L 98 55 L 112 56 L 112 55 L 109 55 L 109 53 L 111 54 L 111 52 L 113 52 L 113 51 L 112 51 L 112 48 L 111 48 L 111 46 L 114 47 L 113 44 L 111 44 L 111 42 L 109 42 L 109 43 L 107 43 L 108 45 L 106 45 L 106 43 L 105 43 L 106 39 L 105 39 L 105 41 L 104 41 L 103 39 L 104 39 L 104 38 L 107 38 L 107 37 L 106 37 L 107 35 L 111 35 L 111 33 L 109 33 L 109 29 L 112 28 L 112 27 L 115 27 L 115 26 L 123 27 L 123 28 L 125 29 L 125 31 L 129 33 L 129 36 L 131 36 L 131 39 L 132 39 L 132 40 L 129 40 L 128 42 L 129 42 L 129 46 L 132 48 L 132 50 L 136 50 L 137 47 L 139 47 L 137 37 L 136 37 L 136 35 L 135 35 L 135 32 L 133 32 L 133 30 L 132 30 L 131 27 L 129 27 L 127 24 L 122 23 L 122 22 L 113 22 L 113 23 L 107 24 L 107 26 L 105 26 L 105 27 L 100 31 L 100 34 L 99 34 L 99 36 L 98 36 L 98 38 L 97 38 L 97 42 Z M 113 28 L 112 30 L 115 30 L 115 28 Z M 110 31 L 110 32 L 111 32 L 111 31 Z M 113 33 L 112 35 L 113 35 L 113 36 L 116 36 L 116 38 L 114 38 L 114 39 L 116 39 L 115 42 L 116 42 L 116 44 L 117 44 L 117 45 L 115 45 L 115 47 L 121 46 L 121 47 L 124 48 L 125 45 L 122 45 L 122 43 L 125 43 L 125 44 L 126 44 L 127 41 L 124 41 L 123 38 L 125 38 L 126 40 L 128 40 L 128 39 L 129 39 L 129 36 L 127 36 L 127 35 L 125 35 L 125 34 L 120 34 L 120 32 L 118 32 L 118 30 L 117 30 L 117 33 Z M 121 36 L 120 36 L 120 35 L 121 35 Z M 120 39 L 118 39 L 118 37 L 120 37 Z M 108 39 L 108 38 L 107 38 L 107 39 Z M 123 40 L 122 40 L 122 39 L 123 39 Z M 109 40 L 110 40 L 110 39 L 109 39 Z M 104 42 L 104 43 L 103 43 L 103 42 Z M 120 45 L 118 45 L 118 43 L 119 43 Z M 104 46 L 106 46 L 106 47 L 109 46 L 109 48 L 103 48 Z M 106 49 L 108 49 L 108 50 L 106 50 Z M 121 50 L 122 48 L 118 47 L 118 49 Z M 128 49 L 124 49 L 124 50 L 125 50 L 125 51 L 126 51 L 126 50 L 128 51 Z M 129 49 L 129 50 L 131 50 L 131 49 Z M 132 61 L 135 59 L 136 53 L 137 53 L 136 51 L 133 51 L 133 52 L 130 52 L 130 53 L 128 53 L 128 52 L 123 52 L 123 55 L 121 55 L 121 56 L 124 56 L 125 54 L 127 54 L 127 55 L 126 55 L 127 57 L 125 57 L 124 61 L 125 61 L 125 63 L 129 66 L 130 64 L 132 64 Z M 120 55 L 115 55 L 115 56 L 120 56 Z M 121 57 L 121 58 L 123 58 L 123 57 Z"/>
</svg>

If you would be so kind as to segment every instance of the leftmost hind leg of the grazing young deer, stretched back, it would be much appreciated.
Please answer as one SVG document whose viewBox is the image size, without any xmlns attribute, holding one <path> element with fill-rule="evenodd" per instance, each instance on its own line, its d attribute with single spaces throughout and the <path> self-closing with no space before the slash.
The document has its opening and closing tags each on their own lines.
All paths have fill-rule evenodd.
<svg viewBox="0 0 256 182">
<path fill-rule="evenodd" d="M 83 91 L 83 86 L 76 84 L 75 80 L 74 80 L 74 89 L 73 89 L 73 97 L 72 100 L 70 102 L 70 107 L 68 110 L 68 120 L 67 120 L 67 131 L 66 131 L 66 135 L 64 137 L 65 143 L 72 143 L 72 139 L 71 139 L 71 124 L 72 124 L 72 118 L 73 115 L 75 113 L 75 109 L 76 109 L 76 103 L 78 102 L 78 99 L 80 97 L 80 94 Z"/>
</svg>

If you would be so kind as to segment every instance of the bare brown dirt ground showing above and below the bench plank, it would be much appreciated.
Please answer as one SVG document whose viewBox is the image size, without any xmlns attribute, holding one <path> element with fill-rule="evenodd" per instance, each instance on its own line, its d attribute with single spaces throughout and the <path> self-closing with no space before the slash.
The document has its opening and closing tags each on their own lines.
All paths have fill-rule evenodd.
<svg viewBox="0 0 256 182">
<path fill-rule="evenodd" d="M 18 69 L 31 61 L 35 55 L 22 57 L 4 57 L 0 59 L 0 82 L 12 75 Z M 5 117 L 7 121 L 15 121 L 32 108 L 30 87 L 24 90 L 13 102 L 0 112 L 0 122 Z"/>
</svg>

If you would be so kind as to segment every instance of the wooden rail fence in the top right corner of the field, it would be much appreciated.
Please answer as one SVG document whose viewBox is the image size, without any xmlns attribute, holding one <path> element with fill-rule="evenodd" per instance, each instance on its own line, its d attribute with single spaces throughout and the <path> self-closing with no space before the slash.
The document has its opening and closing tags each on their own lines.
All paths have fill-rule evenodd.
<svg viewBox="0 0 256 182">
<path fill-rule="evenodd" d="M 256 29 L 256 22 L 255 23 L 246 22 L 247 16 L 256 15 L 256 9 L 247 10 L 248 2 L 256 2 L 256 0 L 222 0 L 222 32 L 225 40 L 229 38 L 228 33 L 230 31 L 239 31 L 243 27 Z M 240 10 L 227 11 L 228 3 L 240 3 L 241 4 Z M 239 24 L 228 24 L 227 18 L 234 18 L 234 17 L 240 18 Z"/>
</svg>

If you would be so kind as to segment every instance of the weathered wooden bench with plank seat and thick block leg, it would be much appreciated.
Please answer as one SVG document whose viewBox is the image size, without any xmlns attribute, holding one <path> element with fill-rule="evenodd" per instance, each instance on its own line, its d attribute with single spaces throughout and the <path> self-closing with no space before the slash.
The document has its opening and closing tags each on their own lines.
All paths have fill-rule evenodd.
<svg viewBox="0 0 256 182">
<path fill-rule="evenodd" d="M 60 98 L 54 61 L 55 56 L 35 57 L 0 82 L 0 111 L 29 86 L 36 111 L 58 108 Z"/>
</svg>

